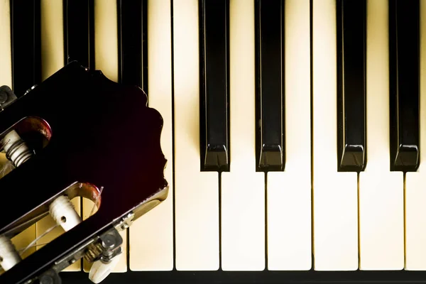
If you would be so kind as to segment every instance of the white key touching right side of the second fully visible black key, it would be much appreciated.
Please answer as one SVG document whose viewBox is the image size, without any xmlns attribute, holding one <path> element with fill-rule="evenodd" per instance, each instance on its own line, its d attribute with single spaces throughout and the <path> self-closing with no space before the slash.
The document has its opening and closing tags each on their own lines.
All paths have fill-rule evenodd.
<svg viewBox="0 0 426 284">
<path fill-rule="evenodd" d="M 285 1 L 285 171 L 268 173 L 268 270 L 310 270 L 310 1 Z"/>
</svg>

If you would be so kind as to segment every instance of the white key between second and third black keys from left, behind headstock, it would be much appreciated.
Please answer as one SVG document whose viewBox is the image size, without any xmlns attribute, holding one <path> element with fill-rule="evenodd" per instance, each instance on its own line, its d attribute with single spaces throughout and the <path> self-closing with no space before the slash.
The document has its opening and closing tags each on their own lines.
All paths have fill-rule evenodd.
<svg viewBox="0 0 426 284">
<path fill-rule="evenodd" d="M 111 81 L 118 82 L 118 39 L 117 39 L 117 1 L 94 0 L 94 65 L 96 70 Z M 83 199 L 83 219 L 92 211 L 93 202 Z M 114 272 L 127 271 L 127 231 L 120 231 L 123 238 L 123 251 Z M 83 261 L 83 269 L 89 272 L 89 263 Z"/>
</svg>

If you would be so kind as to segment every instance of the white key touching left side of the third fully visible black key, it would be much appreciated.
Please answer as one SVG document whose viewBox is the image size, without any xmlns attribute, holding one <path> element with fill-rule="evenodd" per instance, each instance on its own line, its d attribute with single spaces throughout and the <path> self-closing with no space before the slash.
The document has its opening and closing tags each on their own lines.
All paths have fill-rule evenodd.
<svg viewBox="0 0 426 284">
<path fill-rule="evenodd" d="M 358 268 L 357 174 L 337 172 L 336 3 L 313 1 L 313 238 L 317 271 Z"/>
</svg>

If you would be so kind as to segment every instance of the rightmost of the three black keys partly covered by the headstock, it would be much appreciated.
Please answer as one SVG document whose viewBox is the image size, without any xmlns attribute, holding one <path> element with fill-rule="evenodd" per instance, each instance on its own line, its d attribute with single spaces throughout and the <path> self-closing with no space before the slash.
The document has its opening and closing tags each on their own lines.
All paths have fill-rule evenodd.
<svg viewBox="0 0 426 284">
<path fill-rule="evenodd" d="M 117 1 L 119 82 L 148 94 L 148 0 Z"/>
</svg>

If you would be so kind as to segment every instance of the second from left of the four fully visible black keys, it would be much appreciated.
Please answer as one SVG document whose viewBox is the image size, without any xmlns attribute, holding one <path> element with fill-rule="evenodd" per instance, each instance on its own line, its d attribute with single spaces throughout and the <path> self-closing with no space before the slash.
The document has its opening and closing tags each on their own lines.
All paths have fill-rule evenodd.
<svg viewBox="0 0 426 284">
<path fill-rule="evenodd" d="M 258 170 L 284 170 L 283 1 L 256 0 L 256 163 Z"/>
</svg>

